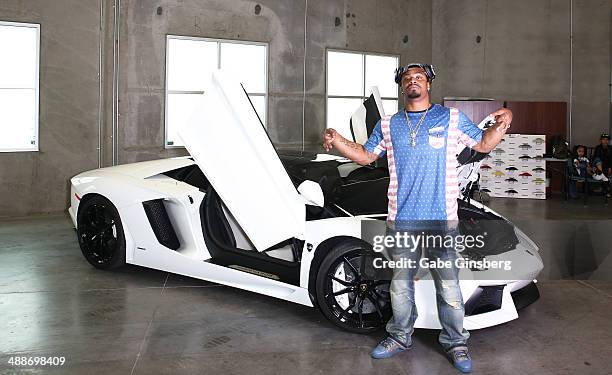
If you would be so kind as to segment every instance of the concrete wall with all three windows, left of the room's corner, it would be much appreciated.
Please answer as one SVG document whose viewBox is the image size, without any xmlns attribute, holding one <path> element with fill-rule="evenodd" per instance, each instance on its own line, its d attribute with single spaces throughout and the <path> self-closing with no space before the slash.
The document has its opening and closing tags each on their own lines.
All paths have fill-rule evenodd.
<svg viewBox="0 0 612 375">
<path fill-rule="evenodd" d="M 103 166 L 113 160 L 123 164 L 185 154 L 163 147 L 167 34 L 268 42 L 268 129 L 280 147 L 289 148 L 301 147 L 302 138 L 308 148 L 320 143 L 325 126 L 326 48 L 395 53 L 402 60 L 431 59 L 427 0 L 123 0 L 115 45 L 119 114 L 114 135 L 114 3 L 5 0 L 0 4 L 0 19 L 42 25 L 40 152 L 0 154 L 0 194 L 10 197 L 0 201 L 0 216 L 64 210 L 68 179 L 98 166 L 98 140 Z M 255 14 L 257 4 L 259 14 Z"/>
</svg>

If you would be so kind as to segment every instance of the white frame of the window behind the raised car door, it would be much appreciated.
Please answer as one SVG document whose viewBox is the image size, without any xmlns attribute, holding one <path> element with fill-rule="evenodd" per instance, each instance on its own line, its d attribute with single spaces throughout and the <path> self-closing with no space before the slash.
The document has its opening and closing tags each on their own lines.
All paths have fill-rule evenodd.
<svg viewBox="0 0 612 375">
<path fill-rule="evenodd" d="M 197 90 L 169 90 L 168 89 L 168 63 L 170 59 L 170 54 L 168 53 L 170 40 L 179 39 L 179 40 L 194 40 L 194 41 L 202 41 L 202 42 L 214 42 L 217 43 L 217 69 L 221 68 L 221 44 L 223 43 L 232 43 L 232 44 L 245 44 L 245 45 L 254 45 L 254 46 L 263 46 L 265 49 L 265 59 L 264 59 L 264 92 L 263 93 L 251 93 L 247 92 L 249 97 L 251 96 L 260 96 L 264 98 L 265 102 L 265 120 L 262 120 L 264 123 L 264 127 L 267 128 L 268 124 L 268 116 L 269 116 L 269 108 L 268 108 L 268 67 L 269 67 L 269 43 L 267 42 L 259 42 L 259 41 L 250 41 L 250 40 L 236 40 L 236 39 L 219 39 L 219 38 L 205 38 L 198 36 L 188 36 L 188 35 L 175 35 L 175 34 L 166 34 L 166 65 L 165 69 L 165 84 L 164 84 L 164 149 L 180 149 L 185 148 L 185 146 L 181 145 L 168 145 L 168 96 L 169 94 L 203 94 L 204 91 Z"/>
</svg>

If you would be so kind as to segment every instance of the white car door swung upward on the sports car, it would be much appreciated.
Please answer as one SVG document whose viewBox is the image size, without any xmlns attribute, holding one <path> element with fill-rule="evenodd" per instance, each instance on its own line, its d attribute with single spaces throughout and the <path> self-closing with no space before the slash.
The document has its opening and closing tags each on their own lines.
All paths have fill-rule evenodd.
<svg viewBox="0 0 612 375">
<path fill-rule="evenodd" d="M 178 134 L 258 251 L 303 238 L 304 201 L 233 77 L 212 73 Z"/>
</svg>

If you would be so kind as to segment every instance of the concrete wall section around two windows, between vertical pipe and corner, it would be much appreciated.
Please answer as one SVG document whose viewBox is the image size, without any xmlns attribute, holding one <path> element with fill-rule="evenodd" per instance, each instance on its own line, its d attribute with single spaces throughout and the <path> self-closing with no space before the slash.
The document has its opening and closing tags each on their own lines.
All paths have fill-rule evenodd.
<svg viewBox="0 0 612 375">
<path fill-rule="evenodd" d="M 163 148 L 167 34 L 269 43 L 268 130 L 283 148 L 301 148 L 302 137 L 307 148 L 320 143 L 325 126 L 326 48 L 395 53 L 402 61 L 431 58 L 431 6 L 426 0 L 124 0 L 123 4 L 121 163 L 184 153 Z M 258 4 L 261 10 L 256 14 Z"/>
</svg>

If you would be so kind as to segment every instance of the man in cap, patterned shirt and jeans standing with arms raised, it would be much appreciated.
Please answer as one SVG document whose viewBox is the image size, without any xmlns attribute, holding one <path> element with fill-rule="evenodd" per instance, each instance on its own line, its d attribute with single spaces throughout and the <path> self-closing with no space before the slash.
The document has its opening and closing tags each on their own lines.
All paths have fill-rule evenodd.
<svg viewBox="0 0 612 375">
<path fill-rule="evenodd" d="M 488 153 L 501 141 L 510 127 L 512 112 L 501 108 L 492 113 L 496 124 L 482 131 L 463 113 L 431 104 L 429 91 L 435 78 L 428 64 L 408 64 L 396 71 L 404 109 L 386 116 L 376 124 L 372 135 L 361 145 L 351 142 L 334 129 L 324 132 L 327 151 L 336 147 L 345 157 L 367 165 L 387 155 L 389 165 L 387 233 L 404 228 L 422 229 L 415 223 L 448 223 L 458 220 L 459 187 L 456 174 L 457 148 L 462 143 L 478 152 Z M 421 232 L 422 233 L 422 232 Z M 392 249 L 393 250 L 393 249 Z M 433 249 L 428 255 L 453 259 L 454 249 Z M 394 252 L 400 256 L 420 257 L 420 251 Z M 403 255 L 402 255 L 403 254 Z M 388 358 L 409 349 L 417 318 L 414 304 L 416 269 L 395 272 L 390 294 L 393 318 L 387 324 L 389 336 L 374 348 L 374 358 Z M 467 348 L 469 333 L 463 328 L 464 306 L 456 269 L 433 271 L 438 316 L 442 325 L 440 344 L 453 365 L 470 372 L 472 362 Z"/>
</svg>

